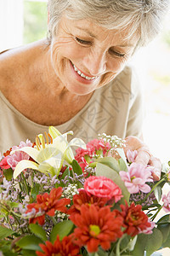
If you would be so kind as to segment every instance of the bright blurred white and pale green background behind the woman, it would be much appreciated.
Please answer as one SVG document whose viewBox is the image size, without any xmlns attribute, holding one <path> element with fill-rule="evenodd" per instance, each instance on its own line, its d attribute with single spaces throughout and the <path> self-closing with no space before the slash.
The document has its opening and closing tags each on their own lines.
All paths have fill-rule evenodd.
<svg viewBox="0 0 170 256">
<path fill-rule="evenodd" d="M 0 51 L 47 34 L 46 0 L 0 0 Z M 144 92 L 144 141 L 162 162 L 170 160 L 170 13 L 160 35 L 133 57 Z M 165 188 L 169 190 L 169 188 Z M 170 255 L 169 249 L 162 255 Z"/>
</svg>

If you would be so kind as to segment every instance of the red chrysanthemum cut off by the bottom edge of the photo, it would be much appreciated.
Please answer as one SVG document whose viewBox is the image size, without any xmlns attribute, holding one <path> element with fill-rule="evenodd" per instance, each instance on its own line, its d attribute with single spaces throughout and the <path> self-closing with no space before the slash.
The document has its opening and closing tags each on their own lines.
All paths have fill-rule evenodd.
<svg viewBox="0 0 170 256">
<path fill-rule="evenodd" d="M 40 247 L 43 253 L 37 251 L 37 256 L 81 256 L 80 248 L 72 242 L 71 236 L 65 236 L 62 241 L 59 241 L 57 236 L 54 245 L 46 241 L 46 244 L 40 244 Z"/>
</svg>

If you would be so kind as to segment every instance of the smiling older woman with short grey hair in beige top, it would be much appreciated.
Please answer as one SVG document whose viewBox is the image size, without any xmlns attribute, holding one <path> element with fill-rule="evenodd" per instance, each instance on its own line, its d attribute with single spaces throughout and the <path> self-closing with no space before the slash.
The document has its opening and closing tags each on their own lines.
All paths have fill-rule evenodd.
<svg viewBox="0 0 170 256">
<path fill-rule="evenodd" d="M 0 151 L 47 131 L 142 137 L 139 82 L 127 61 L 160 31 L 169 0 L 48 0 L 48 38 L 0 55 Z M 154 164 L 156 163 L 156 164 Z M 159 173 L 158 175 L 159 176 Z"/>
</svg>

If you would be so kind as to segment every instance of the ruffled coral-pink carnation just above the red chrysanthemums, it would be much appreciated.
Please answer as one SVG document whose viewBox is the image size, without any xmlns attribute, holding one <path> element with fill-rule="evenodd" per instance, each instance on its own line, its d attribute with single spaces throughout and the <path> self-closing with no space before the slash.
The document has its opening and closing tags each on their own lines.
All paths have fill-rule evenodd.
<svg viewBox="0 0 170 256">
<path fill-rule="evenodd" d="M 103 176 L 90 176 L 84 183 L 84 189 L 88 195 L 119 201 L 122 198 L 122 190 L 110 178 Z"/>
</svg>

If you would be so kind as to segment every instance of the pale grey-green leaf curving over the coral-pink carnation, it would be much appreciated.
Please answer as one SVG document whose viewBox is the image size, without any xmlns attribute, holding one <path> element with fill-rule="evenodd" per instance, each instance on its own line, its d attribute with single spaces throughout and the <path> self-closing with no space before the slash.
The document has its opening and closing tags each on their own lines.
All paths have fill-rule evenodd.
<svg viewBox="0 0 170 256">
<path fill-rule="evenodd" d="M 123 198 L 122 200 L 119 201 L 119 203 L 124 203 L 125 200 L 127 202 L 129 201 L 130 193 L 128 192 L 124 182 L 122 181 L 122 178 L 116 171 L 114 171 L 108 166 L 98 163 L 96 166 L 96 176 L 105 176 L 105 177 L 111 178 L 111 180 L 114 183 L 116 183 L 117 186 L 119 186 L 119 188 L 122 189 Z"/>
</svg>

